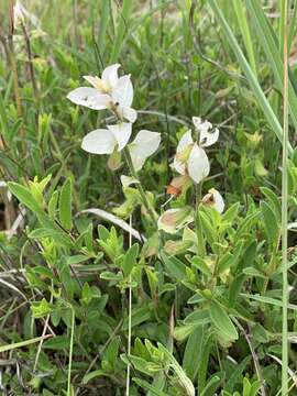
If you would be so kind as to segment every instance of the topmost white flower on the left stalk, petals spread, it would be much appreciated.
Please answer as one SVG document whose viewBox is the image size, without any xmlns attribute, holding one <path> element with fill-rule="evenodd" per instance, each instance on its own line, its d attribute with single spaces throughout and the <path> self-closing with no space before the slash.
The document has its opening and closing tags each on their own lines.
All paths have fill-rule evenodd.
<svg viewBox="0 0 297 396">
<path fill-rule="evenodd" d="M 118 77 L 118 69 L 121 65 L 108 66 L 101 78 L 84 76 L 94 87 L 79 87 L 67 95 L 67 98 L 80 106 L 92 110 L 109 109 L 121 120 L 134 122 L 138 113 L 131 108 L 133 101 L 133 86 L 130 75 Z"/>
</svg>

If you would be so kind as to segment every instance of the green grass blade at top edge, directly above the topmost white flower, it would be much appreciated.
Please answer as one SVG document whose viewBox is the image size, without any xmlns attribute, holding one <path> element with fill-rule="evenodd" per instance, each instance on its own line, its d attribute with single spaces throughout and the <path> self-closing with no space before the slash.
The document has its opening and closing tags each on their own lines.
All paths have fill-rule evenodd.
<svg viewBox="0 0 297 396">
<path fill-rule="evenodd" d="M 122 44 L 124 41 L 124 36 L 128 31 L 128 22 L 132 10 L 132 0 L 123 0 L 122 9 L 119 12 L 119 23 L 116 34 L 116 40 L 112 46 L 111 55 L 110 55 L 110 64 L 113 64 L 118 61 Z"/>
</svg>

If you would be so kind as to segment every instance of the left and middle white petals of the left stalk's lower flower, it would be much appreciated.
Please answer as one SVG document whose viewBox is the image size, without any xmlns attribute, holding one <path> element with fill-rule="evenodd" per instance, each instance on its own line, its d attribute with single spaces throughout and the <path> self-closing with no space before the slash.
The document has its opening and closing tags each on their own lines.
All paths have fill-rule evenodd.
<svg viewBox="0 0 297 396">
<path fill-rule="evenodd" d="M 108 129 L 98 129 L 89 132 L 81 143 L 81 147 L 91 154 L 111 154 L 114 148 L 120 152 L 128 143 L 132 133 L 130 122 L 120 122 L 108 125 Z"/>
</svg>

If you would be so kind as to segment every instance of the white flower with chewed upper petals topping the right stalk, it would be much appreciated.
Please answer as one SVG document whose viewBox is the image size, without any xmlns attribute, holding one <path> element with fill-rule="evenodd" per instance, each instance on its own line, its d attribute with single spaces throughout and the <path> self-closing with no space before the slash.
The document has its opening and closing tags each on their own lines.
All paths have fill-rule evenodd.
<svg viewBox="0 0 297 396">
<path fill-rule="evenodd" d="M 201 122 L 198 117 L 193 118 L 194 125 L 199 131 L 199 142 L 194 142 L 191 131 L 187 131 L 180 139 L 173 167 L 180 175 L 188 175 L 195 183 L 200 183 L 209 175 L 210 166 L 204 147 L 215 144 L 219 138 L 219 130 L 209 132 L 212 124 Z"/>
</svg>

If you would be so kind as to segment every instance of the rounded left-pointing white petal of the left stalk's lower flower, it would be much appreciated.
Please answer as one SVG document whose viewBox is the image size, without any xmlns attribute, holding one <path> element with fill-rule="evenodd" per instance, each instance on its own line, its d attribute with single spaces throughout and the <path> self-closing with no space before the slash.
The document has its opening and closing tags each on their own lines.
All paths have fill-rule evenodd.
<svg viewBox="0 0 297 396">
<path fill-rule="evenodd" d="M 91 154 L 111 154 L 117 144 L 114 135 L 106 129 L 88 133 L 81 143 L 81 148 Z"/>
</svg>

